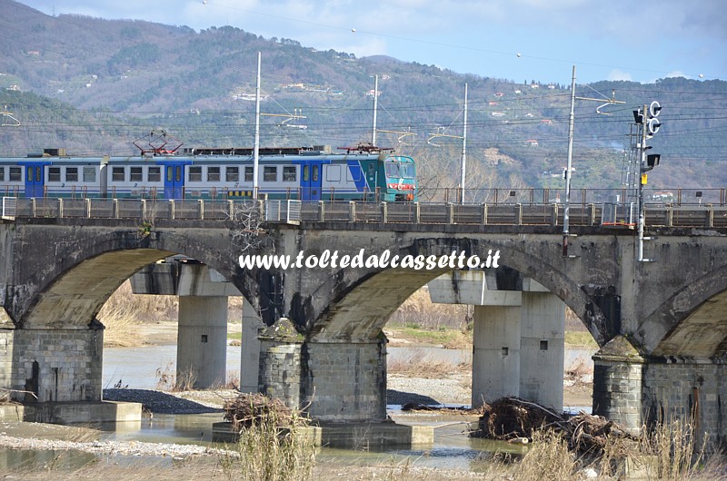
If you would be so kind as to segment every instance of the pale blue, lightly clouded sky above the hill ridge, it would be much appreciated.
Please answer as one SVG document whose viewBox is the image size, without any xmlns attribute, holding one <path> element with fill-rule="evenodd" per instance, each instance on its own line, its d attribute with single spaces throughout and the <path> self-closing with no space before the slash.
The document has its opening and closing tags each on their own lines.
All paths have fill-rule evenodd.
<svg viewBox="0 0 727 481">
<path fill-rule="evenodd" d="M 25 0 L 47 15 L 232 25 L 357 57 L 570 84 L 727 80 L 725 0 Z"/>
</svg>

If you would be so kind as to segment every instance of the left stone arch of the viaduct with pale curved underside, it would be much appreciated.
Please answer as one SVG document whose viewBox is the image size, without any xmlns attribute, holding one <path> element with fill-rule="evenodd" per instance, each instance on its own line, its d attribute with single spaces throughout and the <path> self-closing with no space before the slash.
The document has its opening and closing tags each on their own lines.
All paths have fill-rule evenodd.
<svg viewBox="0 0 727 481">
<path fill-rule="evenodd" d="M 11 309 L 16 326 L 85 327 L 136 270 L 174 254 L 200 260 L 219 271 L 246 299 L 254 298 L 258 292 L 255 280 L 237 266 L 232 246 L 224 236 L 210 239 L 178 231 L 155 231 L 140 239 L 136 231 L 92 232 L 88 235 L 86 231 L 83 236 L 76 233 L 73 239 L 65 237 L 65 242 L 55 243 L 54 252 L 44 255 L 35 249 L 34 261 L 23 276 L 25 296 L 14 297 Z M 20 256 L 30 259 L 23 252 Z M 34 272 L 41 265 L 45 269 Z"/>
</svg>

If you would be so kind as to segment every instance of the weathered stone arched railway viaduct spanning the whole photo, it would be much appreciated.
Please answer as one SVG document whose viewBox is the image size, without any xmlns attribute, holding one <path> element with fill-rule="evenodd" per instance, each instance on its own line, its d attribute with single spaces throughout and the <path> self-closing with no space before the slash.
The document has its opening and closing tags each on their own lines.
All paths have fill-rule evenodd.
<svg viewBox="0 0 727 481">
<path fill-rule="evenodd" d="M 263 319 L 261 391 L 308 406 L 317 419 L 383 420 L 382 328 L 415 290 L 453 270 L 243 269 L 243 248 L 224 221 L 114 217 L 19 215 L 0 224 L 0 388 L 15 398 L 100 401 L 99 309 L 134 272 L 183 254 L 234 284 Z M 403 258 L 456 251 L 484 260 L 499 251 L 507 269 L 493 270 L 497 289 L 536 280 L 598 342 L 595 413 L 632 428 L 670 413 L 695 416 L 712 439 L 727 435 L 727 230 L 702 224 L 702 214 L 699 226 L 649 227 L 650 262 L 636 260 L 634 231 L 593 222 L 572 224 L 563 257 L 557 225 L 322 217 L 263 224 L 262 244 L 246 252 L 307 258 L 388 250 Z"/>
</svg>

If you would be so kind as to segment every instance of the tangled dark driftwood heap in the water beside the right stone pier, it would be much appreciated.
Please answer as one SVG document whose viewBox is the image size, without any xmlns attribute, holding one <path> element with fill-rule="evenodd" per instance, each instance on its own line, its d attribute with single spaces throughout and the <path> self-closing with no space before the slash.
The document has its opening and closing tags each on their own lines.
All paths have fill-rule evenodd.
<svg viewBox="0 0 727 481">
<path fill-rule="evenodd" d="M 571 416 L 521 398 L 500 398 L 484 405 L 478 428 L 470 436 L 519 441 L 541 428 L 552 428 L 565 437 L 572 450 L 593 456 L 603 454 L 603 447 L 613 438 L 637 441 L 605 417 L 583 411 Z"/>
</svg>

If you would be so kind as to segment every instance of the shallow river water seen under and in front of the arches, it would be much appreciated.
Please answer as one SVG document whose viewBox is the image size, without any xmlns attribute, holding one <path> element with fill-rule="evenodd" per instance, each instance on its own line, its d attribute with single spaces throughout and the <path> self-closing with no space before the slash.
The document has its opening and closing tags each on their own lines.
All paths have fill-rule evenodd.
<svg viewBox="0 0 727 481">
<path fill-rule="evenodd" d="M 227 368 L 239 371 L 241 348 L 227 348 Z M 469 362 L 469 350 L 443 348 L 388 348 L 388 360 L 395 362 L 412 358 L 432 361 L 445 361 L 452 364 Z M 566 349 L 565 368 L 575 362 L 590 361 L 593 350 Z M 104 349 L 104 388 L 122 387 L 136 389 L 156 388 L 159 373 L 174 374 L 176 358 L 175 345 L 143 348 L 105 348 Z M 436 467 L 442 469 L 463 469 L 478 471 L 483 465 L 483 453 L 523 452 L 523 447 L 481 438 L 467 437 L 465 421 L 475 417 L 443 415 L 441 413 L 410 414 L 397 406 L 390 406 L 389 415 L 394 421 L 409 425 L 434 426 L 434 442 L 423 449 L 399 449 L 392 447 L 384 452 L 370 450 L 346 450 L 323 448 L 318 459 L 322 462 L 341 463 L 342 465 L 372 465 L 383 461 L 390 463 L 412 463 L 414 466 Z M 119 423 L 100 425 L 99 439 L 117 441 L 142 441 L 177 444 L 211 444 L 212 424 L 222 420 L 221 413 L 197 415 L 161 415 L 144 417 L 140 423 Z M 28 463 L 42 465 L 45 459 L 53 459 L 52 451 L 42 450 L 4 450 L 0 455 L 0 467 L 28 466 Z M 78 453 L 72 456 L 73 464 L 83 465 L 94 455 Z M 485 455 L 485 457 L 487 457 Z"/>
</svg>

